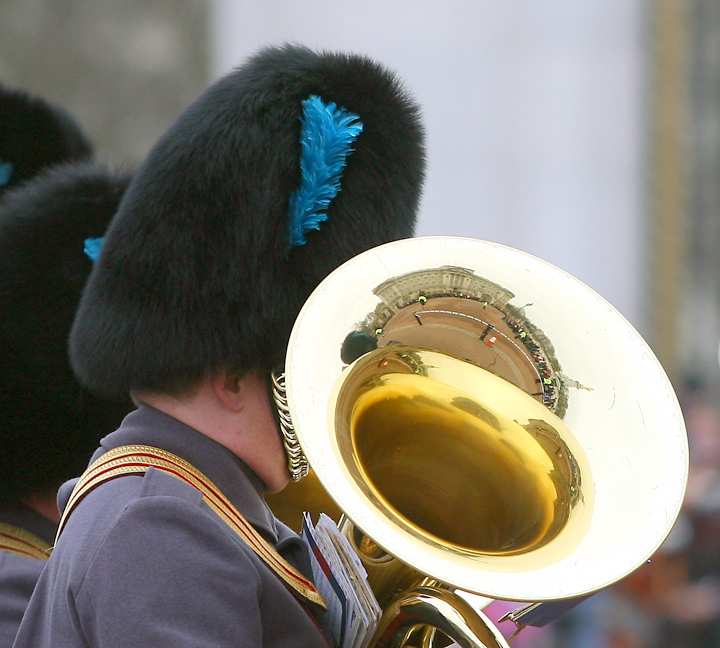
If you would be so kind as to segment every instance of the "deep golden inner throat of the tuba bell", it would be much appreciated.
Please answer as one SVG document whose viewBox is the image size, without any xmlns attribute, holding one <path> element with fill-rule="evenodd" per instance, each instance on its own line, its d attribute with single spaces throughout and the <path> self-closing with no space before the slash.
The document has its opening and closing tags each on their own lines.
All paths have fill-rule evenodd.
<svg viewBox="0 0 720 648">
<path fill-rule="evenodd" d="M 479 367 L 396 345 L 343 378 L 335 430 L 350 474 L 392 523 L 456 553 L 512 555 L 568 525 L 576 543 L 592 508 L 584 453 L 543 410 Z"/>
</svg>

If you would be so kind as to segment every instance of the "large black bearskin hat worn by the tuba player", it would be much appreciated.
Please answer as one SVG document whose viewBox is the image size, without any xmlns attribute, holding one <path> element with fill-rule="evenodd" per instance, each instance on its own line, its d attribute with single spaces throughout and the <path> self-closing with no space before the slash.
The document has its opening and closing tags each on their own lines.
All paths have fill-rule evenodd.
<svg viewBox="0 0 720 648">
<path fill-rule="evenodd" d="M 305 239 L 289 214 L 312 184 L 312 147 L 328 143 L 308 126 L 313 106 L 361 127 Z M 251 57 L 181 115 L 125 194 L 71 334 L 81 381 L 108 396 L 178 393 L 221 370 L 281 365 L 329 272 L 412 235 L 423 140 L 415 102 L 366 57 L 295 45 Z"/>
</svg>

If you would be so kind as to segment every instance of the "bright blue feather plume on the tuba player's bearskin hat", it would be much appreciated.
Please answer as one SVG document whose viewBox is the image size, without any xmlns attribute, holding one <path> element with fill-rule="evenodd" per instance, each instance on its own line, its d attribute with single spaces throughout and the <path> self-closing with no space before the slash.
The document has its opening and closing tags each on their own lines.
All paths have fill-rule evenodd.
<svg viewBox="0 0 720 648">
<path fill-rule="evenodd" d="M 300 187 L 290 197 L 290 247 L 304 245 L 305 233 L 320 229 L 352 145 L 362 132 L 360 117 L 312 95 L 303 101 Z"/>
</svg>

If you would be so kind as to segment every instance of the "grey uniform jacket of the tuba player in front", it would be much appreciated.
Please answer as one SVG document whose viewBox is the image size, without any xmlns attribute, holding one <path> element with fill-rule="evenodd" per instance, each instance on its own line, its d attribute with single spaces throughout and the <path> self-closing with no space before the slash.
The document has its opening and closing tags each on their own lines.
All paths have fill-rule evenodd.
<svg viewBox="0 0 720 648">
<path fill-rule="evenodd" d="M 189 461 L 296 568 L 303 541 L 276 520 L 264 486 L 225 447 L 142 406 L 93 460 L 130 444 Z M 63 510 L 74 481 L 58 496 Z M 324 647 L 318 624 L 192 486 L 149 469 L 91 491 L 68 518 L 20 627 L 16 648 Z"/>
</svg>

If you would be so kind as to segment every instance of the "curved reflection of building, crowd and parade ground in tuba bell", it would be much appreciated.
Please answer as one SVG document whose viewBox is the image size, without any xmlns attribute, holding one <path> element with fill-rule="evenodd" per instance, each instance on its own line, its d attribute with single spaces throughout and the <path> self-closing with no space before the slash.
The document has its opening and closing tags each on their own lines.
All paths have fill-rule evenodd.
<svg viewBox="0 0 720 648">
<path fill-rule="evenodd" d="M 364 334 L 378 347 L 402 343 L 447 353 L 564 417 L 567 388 L 552 342 L 526 316 L 532 304 L 518 306 L 508 289 L 456 266 L 393 277 L 373 292 L 380 303 L 349 338 Z"/>
</svg>

